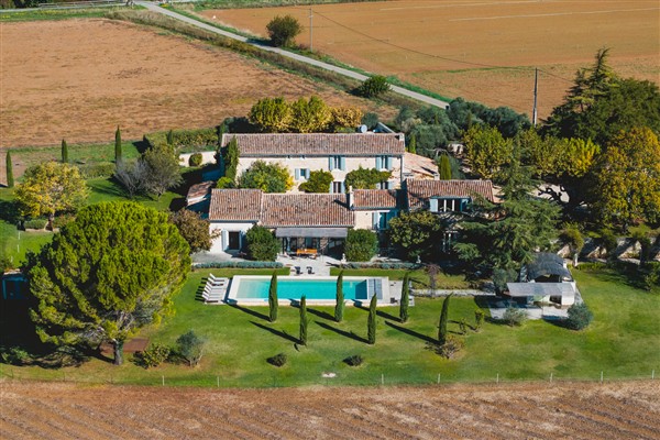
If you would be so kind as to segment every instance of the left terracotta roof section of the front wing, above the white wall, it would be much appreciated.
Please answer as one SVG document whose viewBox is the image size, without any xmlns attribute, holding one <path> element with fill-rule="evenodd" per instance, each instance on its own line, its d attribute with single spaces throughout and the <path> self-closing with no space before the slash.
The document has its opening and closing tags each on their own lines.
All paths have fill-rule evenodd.
<svg viewBox="0 0 660 440">
<path fill-rule="evenodd" d="M 261 206 L 261 189 L 213 189 L 209 220 L 257 221 Z"/>
</svg>

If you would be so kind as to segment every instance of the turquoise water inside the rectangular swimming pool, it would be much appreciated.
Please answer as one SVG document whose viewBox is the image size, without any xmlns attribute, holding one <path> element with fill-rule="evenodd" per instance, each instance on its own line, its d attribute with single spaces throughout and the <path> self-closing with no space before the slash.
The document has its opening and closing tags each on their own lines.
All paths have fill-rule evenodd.
<svg viewBox="0 0 660 440">
<path fill-rule="evenodd" d="M 343 295 L 346 300 L 364 300 L 366 296 L 366 279 L 346 280 L 342 283 Z M 268 288 L 271 278 L 254 279 L 243 278 L 238 286 L 238 290 L 231 292 L 232 299 L 268 299 Z M 299 300 L 305 295 L 307 299 L 334 300 L 337 295 L 336 279 L 302 279 L 302 278 L 278 278 L 277 297 L 278 299 Z"/>
</svg>

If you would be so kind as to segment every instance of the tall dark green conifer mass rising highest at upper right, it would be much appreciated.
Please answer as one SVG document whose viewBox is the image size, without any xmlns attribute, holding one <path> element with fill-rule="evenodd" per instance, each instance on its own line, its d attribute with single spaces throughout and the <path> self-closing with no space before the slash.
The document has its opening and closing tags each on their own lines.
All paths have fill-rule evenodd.
<svg viewBox="0 0 660 440">
<path fill-rule="evenodd" d="M 618 77 L 608 55 L 601 50 L 593 66 L 578 70 L 564 102 L 546 121 L 544 134 L 591 139 L 604 146 L 622 130 L 648 127 L 660 133 L 658 85 Z"/>
</svg>

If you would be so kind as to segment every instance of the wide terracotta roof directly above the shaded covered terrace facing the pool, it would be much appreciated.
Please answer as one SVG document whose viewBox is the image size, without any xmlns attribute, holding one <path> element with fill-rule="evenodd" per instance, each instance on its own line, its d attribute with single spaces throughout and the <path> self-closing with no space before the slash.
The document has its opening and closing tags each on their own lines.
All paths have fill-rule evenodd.
<svg viewBox="0 0 660 440">
<path fill-rule="evenodd" d="M 353 227 L 344 194 L 264 194 L 261 224 L 279 227 Z"/>
</svg>

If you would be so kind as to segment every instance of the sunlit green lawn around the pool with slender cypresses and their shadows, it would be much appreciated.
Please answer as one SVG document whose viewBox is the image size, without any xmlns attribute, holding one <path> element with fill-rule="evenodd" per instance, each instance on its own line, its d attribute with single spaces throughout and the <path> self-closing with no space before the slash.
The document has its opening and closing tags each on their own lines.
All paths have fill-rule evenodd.
<svg viewBox="0 0 660 440">
<path fill-rule="evenodd" d="M 212 270 L 219 276 L 239 271 Z M 481 332 L 470 331 L 466 346 L 455 360 L 444 360 L 427 349 L 427 340 L 437 336 L 442 299 L 416 299 L 410 320 L 400 324 L 396 307 L 380 308 L 378 334 L 374 346 L 366 337 L 364 309 L 349 307 L 342 323 L 333 322 L 331 307 L 309 307 L 309 345 L 296 348 L 298 309 L 280 307 L 279 319 L 266 321 L 266 307 L 234 308 L 206 306 L 195 300 L 195 292 L 209 271 L 190 275 L 175 298 L 176 314 L 158 328 L 142 336 L 172 344 L 189 329 L 208 339 L 201 365 L 163 365 L 143 370 L 131 362 L 113 367 L 92 360 L 80 367 L 42 370 L 7 367 L 4 374 L 20 377 L 52 377 L 78 381 L 264 387 L 312 384 L 376 385 L 443 382 L 556 378 L 596 380 L 601 371 L 606 378 L 644 377 L 651 370 L 660 372 L 660 297 L 626 286 L 613 274 L 578 272 L 575 277 L 595 321 L 585 331 L 575 332 L 549 322 L 530 321 L 521 328 L 486 322 Z M 241 273 L 246 273 L 245 271 Z M 254 273 L 254 271 L 250 271 Z M 271 274 L 271 271 L 261 271 Z M 473 298 L 452 298 L 449 330 L 458 332 L 455 321 L 474 322 L 477 308 Z M 289 362 L 282 369 L 266 363 L 279 352 Z M 364 356 L 365 363 L 350 367 L 342 360 L 352 354 Z M 332 372 L 334 378 L 322 378 Z M 383 375 L 383 376 L 382 376 Z"/>
</svg>

